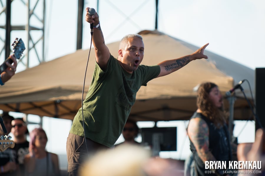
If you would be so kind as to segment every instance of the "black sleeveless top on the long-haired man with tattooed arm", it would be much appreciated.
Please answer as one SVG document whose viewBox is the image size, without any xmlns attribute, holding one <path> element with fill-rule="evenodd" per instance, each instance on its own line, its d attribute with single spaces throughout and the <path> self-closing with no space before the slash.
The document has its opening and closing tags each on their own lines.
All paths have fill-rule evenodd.
<svg viewBox="0 0 265 176">
<path fill-rule="evenodd" d="M 226 161 L 226 167 L 228 167 L 228 162 L 231 160 L 232 152 L 231 152 L 231 145 L 229 139 L 229 132 L 227 129 L 226 124 L 223 125 L 221 128 L 216 128 L 212 121 L 207 119 L 201 113 L 195 112 L 191 119 L 199 117 L 203 119 L 209 128 L 209 150 L 216 158 L 217 161 Z M 205 169 L 204 162 L 198 156 L 196 148 L 194 147 L 193 143 L 190 140 L 190 148 L 191 152 L 193 153 L 193 157 L 196 163 L 196 169 L 198 175 L 216 175 L 216 174 L 205 174 L 207 171 Z"/>
</svg>

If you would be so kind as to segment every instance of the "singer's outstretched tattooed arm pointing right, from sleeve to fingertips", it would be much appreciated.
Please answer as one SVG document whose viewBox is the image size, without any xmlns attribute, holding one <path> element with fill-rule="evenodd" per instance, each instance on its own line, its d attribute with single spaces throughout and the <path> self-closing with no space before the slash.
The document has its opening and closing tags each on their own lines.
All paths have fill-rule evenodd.
<svg viewBox="0 0 265 176">
<path fill-rule="evenodd" d="M 203 54 L 204 49 L 208 45 L 209 43 L 205 44 L 203 47 L 201 47 L 191 55 L 186 55 L 184 57 L 180 57 L 178 59 L 173 59 L 173 60 L 165 60 L 159 63 L 158 65 L 160 66 L 160 74 L 157 77 L 165 76 L 172 72 L 175 72 L 178 69 L 187 65 L 192 60 L 202 59 L 202 58 L 208 59 L 208 57 Z"/>
</svg>

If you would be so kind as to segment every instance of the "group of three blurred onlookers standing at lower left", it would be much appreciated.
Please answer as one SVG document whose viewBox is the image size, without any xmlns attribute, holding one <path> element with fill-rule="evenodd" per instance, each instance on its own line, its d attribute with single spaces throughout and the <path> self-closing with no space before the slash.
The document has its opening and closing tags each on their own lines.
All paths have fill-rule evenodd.
<svg viewBox="0 0 265 176">
<path fill-rule="evenodd" d="M 58 156 L 46 151 L 48 138 L 42 128 L 35 128 L 29 133 L 23 118 L 14 118 L 6 112 L 1 114 L 1 118 L 7 132 L 0 128 L 0 135 L 7 136 L 11 132 L 15 145 L 0 152 L 0 175 L 60 175 Z M 30 141 L 27 141 L 28 133 Z"/>
</svg>

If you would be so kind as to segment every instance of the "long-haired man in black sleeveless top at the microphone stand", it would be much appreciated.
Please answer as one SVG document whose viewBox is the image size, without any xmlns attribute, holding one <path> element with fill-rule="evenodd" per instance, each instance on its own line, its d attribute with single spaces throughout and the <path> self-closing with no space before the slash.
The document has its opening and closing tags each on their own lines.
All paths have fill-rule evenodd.
<svg viewBox="0 0 265 176">
<path fill-rule="evenodd" d="M 227 175 L 227 168 L 205 167 L 206 161 L 224 161 L 228 167 L 232 159 L 223 97 L 216 84 L 206 82 L 200 85 L 197 107 L 188 125 L 196 175 Z"/>
</svg>

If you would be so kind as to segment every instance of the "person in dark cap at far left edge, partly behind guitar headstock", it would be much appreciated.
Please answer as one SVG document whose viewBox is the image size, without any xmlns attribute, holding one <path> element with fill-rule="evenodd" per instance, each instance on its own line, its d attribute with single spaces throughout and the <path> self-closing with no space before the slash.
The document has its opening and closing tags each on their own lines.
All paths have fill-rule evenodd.
<svg viewBox="0 0 265 176">
<path fill-rule="evenodd" d="M 8 112 L 3 112 L 1 117 L 4 121 L 4 126 L 7 133 L 4 133 L 2 127 L 0 127 L 0 136 L 8 135 L 11 131 L 11 121 L 14 120 L 13 116 L 10 116 Z M 7 148 L 3 152 L 0 152 L 0 175 L 16 175 L 17 165 L 15 161 L 15 151 L 11 148 Z"/>
</svg>

